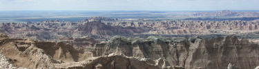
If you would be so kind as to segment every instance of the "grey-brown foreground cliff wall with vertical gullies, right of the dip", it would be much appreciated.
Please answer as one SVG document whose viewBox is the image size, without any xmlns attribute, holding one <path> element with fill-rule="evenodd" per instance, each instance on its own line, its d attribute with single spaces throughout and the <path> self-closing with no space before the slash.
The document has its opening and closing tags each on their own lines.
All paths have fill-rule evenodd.
<svg viewBox="0 0 259 69">
<path fill-rule="evenodd" d="M 93 48 L 93 56 L 109 55 L 120 51 L 128 57 L 144 57 L 149 59 L 165 59 L 169 65 L 190 68 L 233 68 L 251 69 L 259 65 L 258 44 L 237 37 L 218 37 L 214 39 L 163 39 L 148 37 L 147 39 L 126 39 L 115 37 L 108 43 L 97 43 Z M 95 49 L 95 50 L 93 50 Z"/>
</svg>

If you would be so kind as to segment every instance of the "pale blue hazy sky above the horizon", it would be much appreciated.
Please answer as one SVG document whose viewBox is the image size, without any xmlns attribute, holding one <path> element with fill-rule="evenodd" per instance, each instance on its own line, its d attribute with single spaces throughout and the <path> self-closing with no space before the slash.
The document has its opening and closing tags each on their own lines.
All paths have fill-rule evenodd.
<svg viewBox="0 0 259 69">
<path fill-rule="evenodd" d="M 259 0 L 0 0 L 0 10 L 259 10 Z"/>
</svg>

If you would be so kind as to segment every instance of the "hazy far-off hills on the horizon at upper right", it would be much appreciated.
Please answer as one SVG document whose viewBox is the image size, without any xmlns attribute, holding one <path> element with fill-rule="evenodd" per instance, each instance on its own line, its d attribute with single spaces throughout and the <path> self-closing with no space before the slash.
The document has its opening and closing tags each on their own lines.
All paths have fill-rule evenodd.
<svg viewBox="0 0 259 69">
<path fill-rule="evenodd" d="M 259 17 L 259 12 L 233 12 L 222 10 L 218 12 L 198 12 L 191 14 L 196 17 Z"/>
</svg>

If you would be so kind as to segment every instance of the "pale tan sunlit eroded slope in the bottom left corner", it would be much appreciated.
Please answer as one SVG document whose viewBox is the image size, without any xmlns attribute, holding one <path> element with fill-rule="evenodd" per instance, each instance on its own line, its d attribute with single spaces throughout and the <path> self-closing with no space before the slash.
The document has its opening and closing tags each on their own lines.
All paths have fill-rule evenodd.
<svg viewBox="0 0 259 69">
<path fill-rule="evenodd" d="M 51 59 L 44 50 L 38 49 L 26 39 L 1 39 L 1 54 L 16 67 L 54 68 Z"/>
</svg>

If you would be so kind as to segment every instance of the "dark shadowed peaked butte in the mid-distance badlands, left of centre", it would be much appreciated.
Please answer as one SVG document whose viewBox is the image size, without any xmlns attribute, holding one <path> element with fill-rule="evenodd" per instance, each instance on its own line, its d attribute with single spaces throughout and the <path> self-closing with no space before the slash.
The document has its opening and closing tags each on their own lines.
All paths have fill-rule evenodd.
<svg viewBox="0 0 259 69">
<path fill-rule="evenodd" d="M 132 27 L 108 26 L 101 21 L 84 23 L 84 26 L 79 26 L 78 30 L 95 36 L 110 36 L 115 34 L 129 35 L 142 32 Z"/>
</svg>

